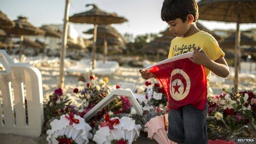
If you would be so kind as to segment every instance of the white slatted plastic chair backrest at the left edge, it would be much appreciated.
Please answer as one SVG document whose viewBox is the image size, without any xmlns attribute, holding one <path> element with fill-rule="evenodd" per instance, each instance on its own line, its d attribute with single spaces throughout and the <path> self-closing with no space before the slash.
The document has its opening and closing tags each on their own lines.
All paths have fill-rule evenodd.
<svg viewBox="0 0 256 144">
<path fill-rule="evenodd" d="M 43 89 L 40 71 L 11 61 L 0 50 L 0 133 L 39 137 L 43 126 Z"/>
</svg>

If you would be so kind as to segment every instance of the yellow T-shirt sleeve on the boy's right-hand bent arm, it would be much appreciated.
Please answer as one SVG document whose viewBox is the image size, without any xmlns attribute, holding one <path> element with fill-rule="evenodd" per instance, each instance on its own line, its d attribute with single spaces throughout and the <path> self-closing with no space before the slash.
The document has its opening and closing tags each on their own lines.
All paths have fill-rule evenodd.
<svg viewBox="0 0 256 144">
<path fill-rule="evenodd" d="M 221 48 L 219 48 L 217 40 L 211 35 L 208 35 L 208 37 L 206 37 L 204 51 L 213 61 L 217 60 L 219 57 L 225 56 L 225 53 L 222 51 Z"/>
</svg>

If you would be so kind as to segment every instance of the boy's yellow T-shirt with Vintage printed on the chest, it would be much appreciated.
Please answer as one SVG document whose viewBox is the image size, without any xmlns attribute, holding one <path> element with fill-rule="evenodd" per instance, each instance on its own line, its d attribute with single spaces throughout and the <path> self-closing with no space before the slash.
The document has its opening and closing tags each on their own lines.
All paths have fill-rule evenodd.
<svg viewBox="0 0 256 144">
<path fill-rule="evenodd" d="M 176 37 L 171 41 L 168 58 L 193 51 L 192 47 L 200 46 L 208 57 L 215 61 L 224 57 L 225 53 L 219 48 L 216 39 L 208 32 L 199 31 L 189 37 Z M 204 68 L 207 77 L 207 93 L 209 96 L 210 70 Z"/>
</svg>

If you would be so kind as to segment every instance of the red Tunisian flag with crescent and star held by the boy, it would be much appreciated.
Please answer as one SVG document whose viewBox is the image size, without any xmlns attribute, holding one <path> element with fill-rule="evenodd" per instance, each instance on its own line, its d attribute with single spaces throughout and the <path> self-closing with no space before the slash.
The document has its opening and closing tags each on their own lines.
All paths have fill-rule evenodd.
<svg viewBox="0 0 256 144">
<path fill-rule="evenodd" d="M 167 94 L 169 108 L 192 104 L 204 110 L 207 100 L 207 81 L 204 67 L 188 59 L 193 52 L 159 62 L 149 69 L 160 80 Z"/>
</svg>

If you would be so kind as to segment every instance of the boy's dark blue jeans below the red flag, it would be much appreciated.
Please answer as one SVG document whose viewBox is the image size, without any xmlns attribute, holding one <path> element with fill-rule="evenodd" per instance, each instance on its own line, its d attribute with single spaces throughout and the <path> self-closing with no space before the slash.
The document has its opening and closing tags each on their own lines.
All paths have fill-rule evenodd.
<svg viewBox="0 0 256 144">
<path fill-rule="evenodd" d="M 198 110 L 193 105 L 185 105 L 178 110 L 169 110 L 168 138 L 173 142 L 185 144 L 207 144 L 207 115 L 205 110 Z"/>
</svg>

